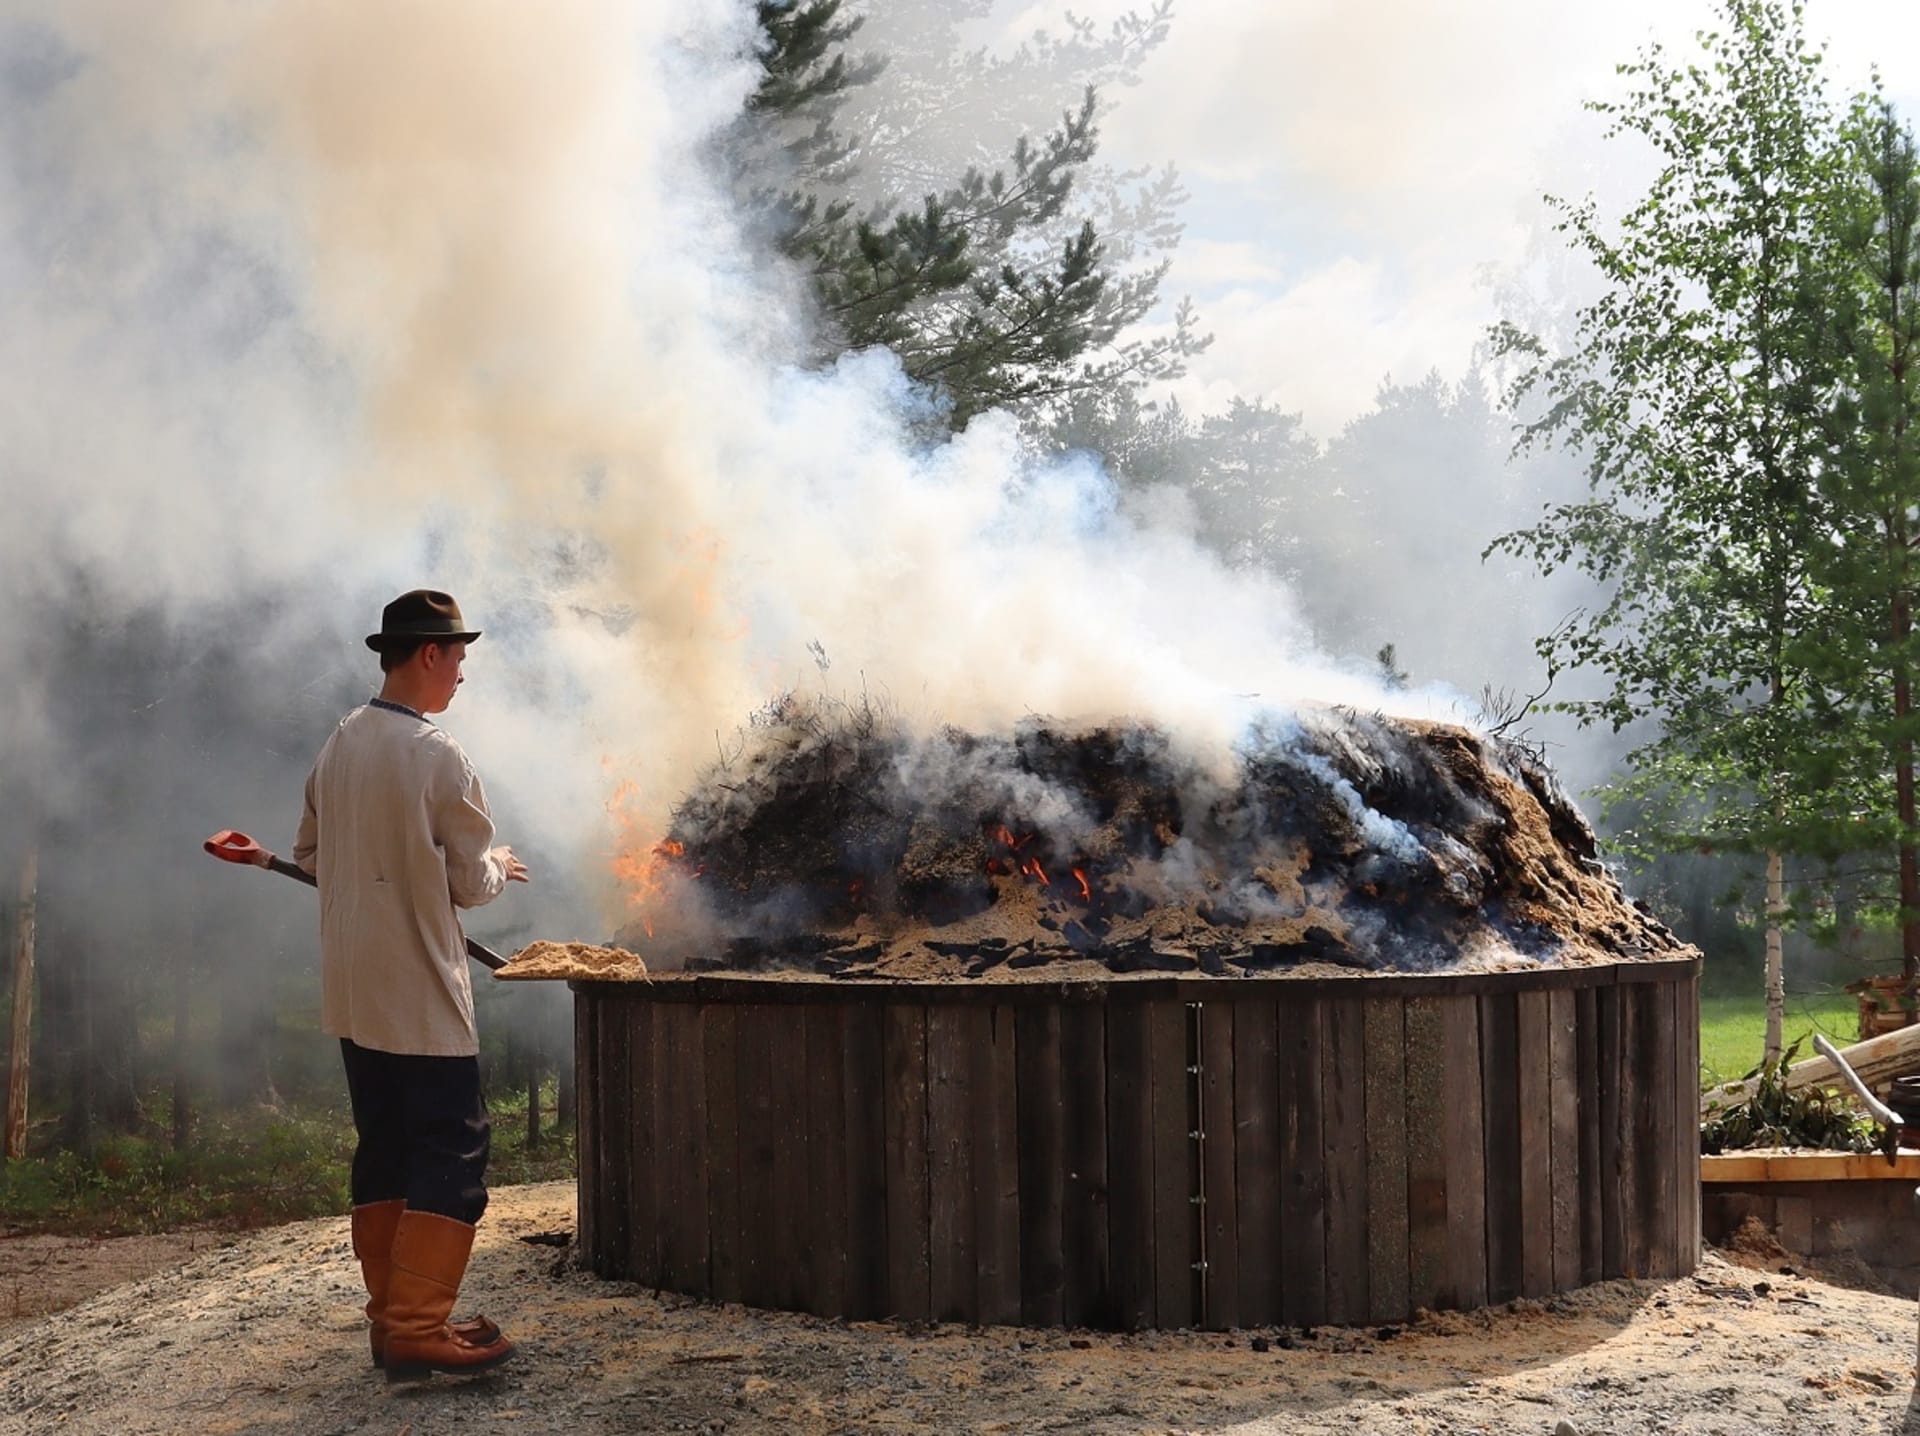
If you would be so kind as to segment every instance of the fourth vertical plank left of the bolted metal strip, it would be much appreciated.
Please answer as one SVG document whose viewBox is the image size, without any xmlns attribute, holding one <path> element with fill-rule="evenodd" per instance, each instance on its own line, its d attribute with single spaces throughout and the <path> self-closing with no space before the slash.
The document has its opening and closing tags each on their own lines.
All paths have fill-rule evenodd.
<svg viewBox="0 0 1920 1436">
<path fill-rule="evenodd" d="M 1060 1008 L 1014 1010 L 1016 1121 L 1020 1146 L 1020 1319 L 1066 1321 L 1066 1108 L 1060 1096 Z"/>
</svg>

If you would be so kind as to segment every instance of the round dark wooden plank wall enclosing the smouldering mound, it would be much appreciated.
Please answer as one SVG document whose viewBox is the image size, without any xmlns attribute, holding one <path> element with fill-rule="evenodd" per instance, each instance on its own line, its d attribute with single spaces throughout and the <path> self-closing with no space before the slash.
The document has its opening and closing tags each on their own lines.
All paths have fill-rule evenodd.
<svg viewBox="0 0 1920 1436">
<path fill-rule="evenodd" d="M 1699 962 L 572 983 L 580 1246 L 722 1302 L 1400 1321 L 1699 1259 Z"/>
</svg>

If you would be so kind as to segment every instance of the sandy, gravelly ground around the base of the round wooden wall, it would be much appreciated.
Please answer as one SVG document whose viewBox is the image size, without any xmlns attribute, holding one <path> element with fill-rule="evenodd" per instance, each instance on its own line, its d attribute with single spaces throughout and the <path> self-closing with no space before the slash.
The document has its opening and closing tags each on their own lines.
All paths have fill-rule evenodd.
<svg viewBox="0 0 1920 1436">
<path fill-rule="evenodd" d="M 0 1330 L 0 1432 L 1920 1432 L 1914 1304 L 1764 1248 L 1405 1328 L 1114 1336 L 703 1305 L 520 1240 L 572 1225 L 568 1183 L 497 1190 L 463 1309 L 520 1357 L 399 1388 L 367 1365 L 344 1219 L 202 1234 Z M 0 1292 L 42 1257 L 0 1242 Z"/>
</svg>

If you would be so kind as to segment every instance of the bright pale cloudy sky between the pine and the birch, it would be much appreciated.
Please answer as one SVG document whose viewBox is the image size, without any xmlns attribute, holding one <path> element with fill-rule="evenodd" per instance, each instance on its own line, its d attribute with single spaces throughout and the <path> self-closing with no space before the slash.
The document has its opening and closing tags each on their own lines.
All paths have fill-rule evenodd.
<svg viewBox="0 0 1920 1436">
<path fill-rule="evenodd" d="M 1075 0 L 1106 23 L 1135 0 Z M 1008 6 L 1002 38 L 1054 6 Z M 1219 409 L 1261 395 L 1327 438 L 1380 380 L 1457 378 L 1496 317 L 1490 275 L 1544 236 L 1544 192 L 1603 196 L 1634 173 L 1582 100 L 1649 40 L 1693 50 L 1703 0 L 1177 0 L 1140 84 L 1112 96 L 1104 156 L 1175 159 L 1192 202 L 1162 292 L 1213 346 L 1179 384 Z M 1920 6 L 1809 0 L 1828 84 L 1874 67 L 1920 117 Z"/>
</svg>

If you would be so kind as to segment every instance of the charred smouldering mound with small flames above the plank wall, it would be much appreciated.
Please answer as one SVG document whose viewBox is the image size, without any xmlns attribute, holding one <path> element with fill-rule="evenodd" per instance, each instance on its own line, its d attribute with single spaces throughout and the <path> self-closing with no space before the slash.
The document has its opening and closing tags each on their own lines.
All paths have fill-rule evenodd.
<svg viewBox="0 0 1920 1436">
<path fill-rule="evenodd" d="M 787 701 L 636 875 L 643 925 L 620 941 L 655 968 L 1457 971 L 1686 952 L 1524 751 L 1331 710 L 1269 720 L 1210 764 L 1146 726 L 927 737 Z"/>
</svg>

